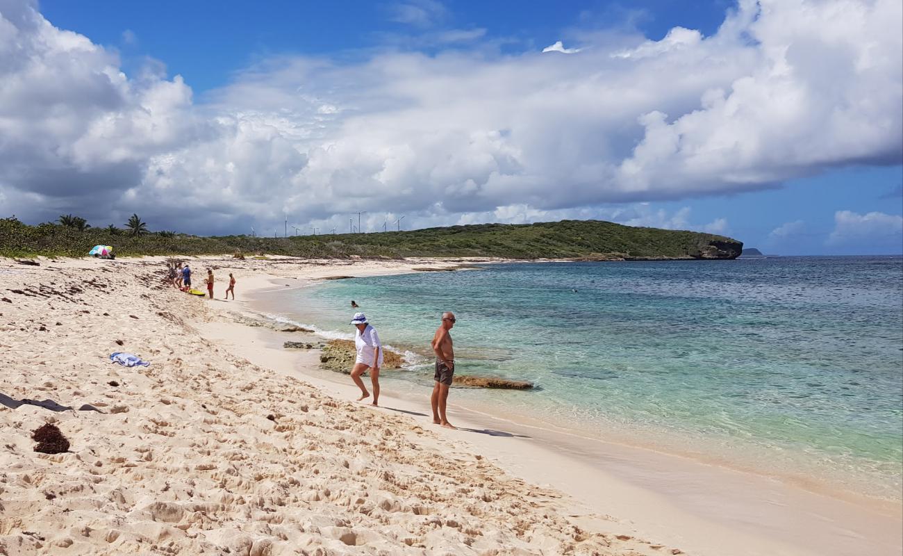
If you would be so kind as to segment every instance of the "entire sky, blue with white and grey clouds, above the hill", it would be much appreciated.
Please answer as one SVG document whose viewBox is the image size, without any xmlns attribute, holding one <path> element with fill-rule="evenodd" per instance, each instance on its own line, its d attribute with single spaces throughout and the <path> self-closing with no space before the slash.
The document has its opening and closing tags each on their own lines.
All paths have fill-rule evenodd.
<svg viewBox="0 0 903 556">
<path fill-rule="evenodd" d="M 0 0 L 0 216 L 598 219 L 897 254 L 900 21 L 899 0 Z"/>
</svg>

